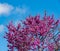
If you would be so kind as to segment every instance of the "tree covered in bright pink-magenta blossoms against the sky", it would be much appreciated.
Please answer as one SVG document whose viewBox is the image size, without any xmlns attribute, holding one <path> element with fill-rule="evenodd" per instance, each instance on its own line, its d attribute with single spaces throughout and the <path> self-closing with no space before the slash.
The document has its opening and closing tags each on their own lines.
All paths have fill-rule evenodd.
<svg viewBox="0 0 60 51">
<path fill-rule="evenodd" d="M 60 50 L 60 21 L 46 14 L 29 16 L 22 21 L 23 26 L 12 22 L 7 25 L 4 38 L 8 41 L 8 51 L 58 51 Z"/>
</svg>

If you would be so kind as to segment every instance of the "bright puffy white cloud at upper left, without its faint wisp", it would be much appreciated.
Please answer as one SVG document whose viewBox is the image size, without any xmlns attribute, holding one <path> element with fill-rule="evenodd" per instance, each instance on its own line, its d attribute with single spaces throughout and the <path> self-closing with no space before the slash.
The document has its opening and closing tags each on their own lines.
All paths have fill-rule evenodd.
<svg viewBox="0 0 60 51">
<path fill-rule="evenodd" d="M 0 3 L 0 15 L 9 15 L 13 9 L 14 7 L 12 5 Z"/>
</svg>

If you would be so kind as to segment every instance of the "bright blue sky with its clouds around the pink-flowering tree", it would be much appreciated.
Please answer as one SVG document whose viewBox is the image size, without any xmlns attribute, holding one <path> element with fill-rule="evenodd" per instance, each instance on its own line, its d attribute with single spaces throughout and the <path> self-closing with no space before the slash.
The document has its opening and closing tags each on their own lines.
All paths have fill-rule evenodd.
<svg viewBox="0 0 60 51">
<path fill-rule="evenodd" d="M 7 51 L 7 41 L 3 38 L 6 25 L 12 20 L 15 25 L 29 15 L 38 14 L 43 17 L 54 14 L 55 19 L 60 18 L 60 0 L 0 0 L 0 51 Z"/>
</svg>

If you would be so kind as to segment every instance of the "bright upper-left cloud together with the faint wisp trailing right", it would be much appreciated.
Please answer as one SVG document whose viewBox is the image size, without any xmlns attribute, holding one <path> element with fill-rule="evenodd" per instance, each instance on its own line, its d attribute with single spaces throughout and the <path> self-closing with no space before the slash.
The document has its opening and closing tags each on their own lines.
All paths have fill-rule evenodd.
<svg viewBox="0 0 60 51">
<path fill-rule="evenodd" d="M 26 14 L 27 8 L 22 7 L 14 7 L 7 3 L 0 3 L 0 15 L 9 15 L 9 14 Z"/>
</svg>

